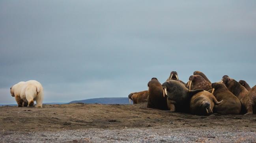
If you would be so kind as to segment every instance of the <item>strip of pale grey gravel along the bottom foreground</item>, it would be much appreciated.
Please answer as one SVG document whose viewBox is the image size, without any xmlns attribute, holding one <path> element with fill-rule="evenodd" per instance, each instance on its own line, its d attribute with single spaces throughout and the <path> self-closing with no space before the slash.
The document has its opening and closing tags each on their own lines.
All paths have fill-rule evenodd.
<svg viewBox="0 0 256 143">
<path fill-rule="evenodd" d="M 167 127 L 166 127 L 167 126 Z M 126 129 L 82 129 L 58 132 L 0 131 L 3 143 L 164 143 L 164 142 L 247 142 L 256 143 L 256 132 L 239 129 L 171 129 L 171 127 Z M 221 130 L 221 131 L 220 131 Z"/>
</svg>

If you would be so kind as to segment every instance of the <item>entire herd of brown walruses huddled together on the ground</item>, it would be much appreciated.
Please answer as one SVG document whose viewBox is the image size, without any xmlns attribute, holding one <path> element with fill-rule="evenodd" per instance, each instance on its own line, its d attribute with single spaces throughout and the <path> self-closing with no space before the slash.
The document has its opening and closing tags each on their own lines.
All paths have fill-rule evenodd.
<svg viewBox="0 0 256 143">
<path fill-rule="evenodd" d="M 163 84 L 151 78 L 148 91 L 133 92 L 128 97 L 133 104 L 148 102 L 148 108 L 166 112 L 256 114 L 256 85 L 250 88 L 246 81 L 237 82 L 227 75 L 211 83 L 200 71 L 195 71 L 187 83 L 179 80 L 176 71 Z"/>
</svg>

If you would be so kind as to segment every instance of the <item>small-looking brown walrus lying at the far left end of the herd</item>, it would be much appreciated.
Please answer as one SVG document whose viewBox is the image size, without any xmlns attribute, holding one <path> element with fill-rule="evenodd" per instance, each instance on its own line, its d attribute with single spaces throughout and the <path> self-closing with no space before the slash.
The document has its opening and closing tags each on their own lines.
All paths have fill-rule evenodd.
<svg viewBox="0 0 256 143">
<path fill-rule="evenodd" d="M 128 95 L 128 98 L 133 101 L 133 104 L 148 102 L 148 91 L 133 92 Z"/>
</svg>

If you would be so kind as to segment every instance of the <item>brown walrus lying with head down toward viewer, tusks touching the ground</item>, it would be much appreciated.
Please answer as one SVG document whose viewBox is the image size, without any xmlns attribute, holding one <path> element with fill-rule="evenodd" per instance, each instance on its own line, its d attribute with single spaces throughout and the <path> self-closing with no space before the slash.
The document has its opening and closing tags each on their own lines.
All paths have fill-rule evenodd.
<svg viewBox="0 0 256 143">
<path fill-rule="evenodd" d="M 207 91 L 194 94 L 190 101 L 190 112 L 196 115 L 208 115 L 213 113 L 214 105 L 220 104 L 215 96 Z"/>
</svg>

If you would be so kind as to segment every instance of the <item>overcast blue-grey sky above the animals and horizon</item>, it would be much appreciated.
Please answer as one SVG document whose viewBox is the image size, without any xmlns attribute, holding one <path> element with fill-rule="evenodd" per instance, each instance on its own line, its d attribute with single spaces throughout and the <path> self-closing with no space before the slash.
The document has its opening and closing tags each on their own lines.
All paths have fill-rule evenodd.
<svg viewBox="0 0 256 143">
<path fill-rule="evenodd" d="M 256 85 L 256 1 L 1 0 L 0 104 L 37 80 L 45 103 L 128 97 L 171 71 Z"/>
</svg>

